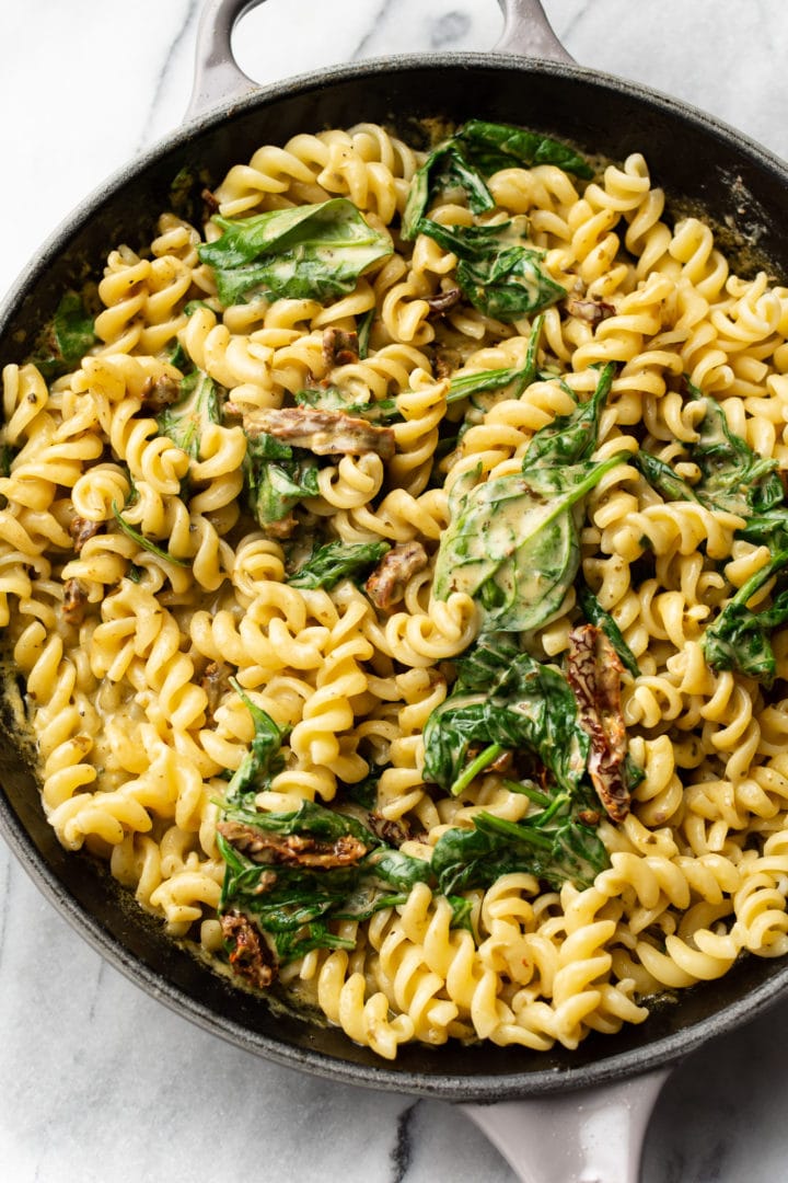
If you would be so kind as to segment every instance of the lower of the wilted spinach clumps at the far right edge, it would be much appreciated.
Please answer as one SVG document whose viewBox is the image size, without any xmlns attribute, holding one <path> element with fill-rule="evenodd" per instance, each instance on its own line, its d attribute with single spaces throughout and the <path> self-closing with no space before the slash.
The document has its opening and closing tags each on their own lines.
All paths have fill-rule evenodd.
<svg viewBox="0 0 788 1183">
<path fill-rule="evenodd" d="M 737 670 L 757 678 L 767 689 L 771 686 L 777 665 L 770 634 L 788 621 L 788 589 L 775 597 L 770 608 L 761 612 L 754 612 L 747 603 L 786 567 L 788 550 L 781 550 L 750 576 L 706 628 L 701 646 L 712 670 Z"/>
</svg>

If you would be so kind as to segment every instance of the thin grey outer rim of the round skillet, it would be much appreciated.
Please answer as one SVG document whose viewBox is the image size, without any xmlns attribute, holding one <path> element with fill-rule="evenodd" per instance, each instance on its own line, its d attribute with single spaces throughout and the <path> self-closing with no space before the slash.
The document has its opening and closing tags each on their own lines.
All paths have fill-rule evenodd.
<svg viewBox="0 0 788 1183">
<path fill-rule="evenodd" d="M 559 78 L 579 79 L 586 84 L 601 86 L 619 98 L 636 98 L 656 109 L 671 121 L 688 121 L 704 135 L 722 140 L 735 153 L 756 163 L 760 168 L 775 175 L 779 183 L 788 192 L 788 166 L 775 154 L 756 141 L 743 135 L 724 122 L 706 112 L 672 98 L 659 91 L 630 83 L 614 75 L 591 70 L 585 66 L 554 63 L 540 59 L 523 58 L 509 53 L 451 53 L 429 54 L 415 53 L 398 56 L 393 60 L 380 58 L 363 63 L 351 63 L 312 71 L 285 79 L 265 88 L 252 90 L 248 96 L 230 103 L 220 103 L 200 114 L 187 124 L 174 129 L 161 137 L 145 153 L 126 162 L 117 169 L 105 183 L 95 188 L 44 241 L 40 253 L 22 270 L 17 282 L 12 284 L 0 305 L 0 340 L 9 322 L 20 308 L 22 300 L 34 292 L 35 286 L 51 264 L 64 253 L 77 232 L 109 200 L 126 189 L 130 182 L 145 169 L 161 162 L 168 154 L 180 148 L 187 148 L 196 136 L 221 128 L 232 121 L 258 108 L 288 98 L 301 97 L 307 92 L 317 92 L 337 83 L 362 80 L 379 80 L 382 75 L 396 76 L 412 70 L 424 69 L 474 69 L 489 72 L 508 71 L 522 73 L 549 75 Z M 5 342 L 4 342 L 5 344 Z M 35 803 L 40 810 L 40 802 Z M 41 812 L 43 813 L 43 812 Z M 372 1064 L 359 1064 L 326 1055 L 314 1048 L 302 1048 L 272 1039 L 261 1032 L 234 1020 L 217 1015 L 204 1003 L 187 994 L 161 972 L 145 965 L 126 945 L 110 933 L 96 918 L 93 912 L 83 906 L 64 887 L 60 877 L 46 862 L 38 851 L 31 833 L 19 819 L 17 812 L 0 788 L 0 833 L 6 838 L 12 852 L 21 862 L 24 870 L 35 885 L 65 917 L 73 929 L 87 940 L 93 949 L 104 956 L 116 969 L 130 981 L 142 987 L 149 995 L 164 1002 L 177 1014 L 189 1019 L 206 1030 L 216 1034 L 246 1051 L 262 1055 L 280 1065 L 307 1071 L 313 1074 L 340 1080 L 345 1084 L 363 1085 L 384 1091 L 408 1092 L 416 1095 L 441 1098 L 444 1100 L 488 1101 L 507 1098 L 528 1097 L 558 1092 L 571 1092 L 586 1088 L 590 1085 L 601 1085 L 612 1080 L 636 1075 L 658 1066 L 672 1064 L 689 1052 L 699 1047 L 709 1039 L 722 1035 L 727 1030 L 754 1019 L 767 1010 L 788 990 L 788 961 L 775 974 L 769 976 L 755 989 L 748 990 L 735 1002 L 723 1009 L 693 1022 L 690 1027 L 672 1035 L 656 1037 L 643 1047 L 629 1048 L 624 1052 L 606 1055 L 590 1064 L 569 1067 L 566 1071 L 556 1068 L 536 1068 L 532 1072 L 502 1072 L 500 1074 L 451 1074 L 437 1072 L 435 1075 L 423 1072 L 397 1071 L 393 1065 L 376 1060 Z M 69 855 L 73 858 L 73 855 Z M 172 938 L 162 932 L 163 942 Z M 696 988 L 697 989 L 697 988 Z M 686 994 L 686 991 L 684 991 Z M 646 1028 L 650 1020 L 646 1020 Z M 606 1046 L 616 1036 L 604 1036 Z M 350 1045 L 350 1040 L 346 1041 Z M 516 1049 L 510 1049 L 514 1054 Z M 439 1058 L 441 1049 L 434 1052 Z M 539 1055 L 539 1053 L 536 1053 Z"/>
</svg>

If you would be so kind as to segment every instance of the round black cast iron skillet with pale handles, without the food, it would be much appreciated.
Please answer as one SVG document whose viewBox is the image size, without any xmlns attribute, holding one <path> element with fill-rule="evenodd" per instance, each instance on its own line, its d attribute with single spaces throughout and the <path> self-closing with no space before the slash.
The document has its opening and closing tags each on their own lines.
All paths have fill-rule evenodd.
<svg viewBox="0 0 788 1183">
<path fill-rule="evenodd" d="M 234 22 L 255 2 L 208 0 L 185 125 L 89 198 L 45 244 L 0 309 L 4 363 L 25 360 L 63 290 L 98 273 L 113 246 L 150 241 L 156 215 L 171 206 L 172 183 L 184 170 L 195 183 L 191 193 L 178 188 L 182 208 L 189 215 L 194 202 L 196 216 L 202 187 L 216 183 L 260 144 L 359 121 L 388 123 L 412 137 L 425 116 L 454 122 L 481 116 L 521 123 L 614 160 L 644 151 L 675 208 L 705 212 L 721 227 L 725 248 L 742 252 L 742 265 L 768 260 L 776 273 L 788 274 L 786 166 L 698 111 L 577 66 L 549 30 L 539 0 L 500 0 L 506 27 L 497 52 L 367 62 L 263 90 L 239 71 L 229 46 Z M 526 49 L 541 56 L 516 56 Z M 273 1014 L 265 1002 L 232 988 L 165 938 L 103 867 L 64 852 L 44 819 L 7 704 L 2 712 L 0 828 L 39 887 L 99 952 L 155 997 L 280 1064 L 356 1085 L 471 1101 L 473 1116 L 490 1132 L 497 1118 L 480 1103 L 574 1093 L 625 1078 L 646 1079 L 644 1073 L 652 1073 L 644 1092 L 653 1097 L 663 1079 L 657 1069 L 754 1017 L 788 988 L 784 961 L 751 957 L 721 981 L 658 1008 L 644 1026 L 617 1036 L 591 1035 L 574 1052 L 409 1046 L 396 1064 L 383 1064 L 340 1032 Z M 630 1085 L 627 1099 L 632 1095 Z M 533 1104 L 529 1111 L 536 1112 Z M 504 1140 L 500 1130 L 491 1132 Z M 614 1169 L 633 1168 L 630 1162 Z"/>
</svg>

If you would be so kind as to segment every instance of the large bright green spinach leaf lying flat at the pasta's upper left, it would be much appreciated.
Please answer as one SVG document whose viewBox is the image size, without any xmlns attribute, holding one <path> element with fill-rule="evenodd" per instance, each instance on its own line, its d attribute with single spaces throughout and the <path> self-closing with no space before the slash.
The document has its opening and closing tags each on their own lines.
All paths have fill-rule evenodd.
<svg viewBox="0 0 788 1183">
<path fill-rule="evenodd" d="M 392 251 L 389 237 L 372 230 L 346 198 L 237 220 L 216 214 L 213 220 L 224 233 L 200 246 L 198 254 L 214 269 L 224 306 L 256 295 L 340 296 Z"/>
</svg>

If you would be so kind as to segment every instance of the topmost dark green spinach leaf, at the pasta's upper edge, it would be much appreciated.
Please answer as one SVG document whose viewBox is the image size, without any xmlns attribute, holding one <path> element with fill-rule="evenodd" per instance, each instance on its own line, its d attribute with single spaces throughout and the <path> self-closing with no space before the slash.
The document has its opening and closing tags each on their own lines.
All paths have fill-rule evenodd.
<svg viewBox="0 0 788 1183">
<path fill-rule="evenodd" d="M 501 168 L 556 164 L 565 173 L 588 180 L 593 169 L 574 149 L 549 136 L 506 123 L 469 119 L 455 136 L 465 159 L 484 176 Z"/>
</svg>

